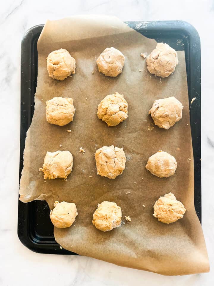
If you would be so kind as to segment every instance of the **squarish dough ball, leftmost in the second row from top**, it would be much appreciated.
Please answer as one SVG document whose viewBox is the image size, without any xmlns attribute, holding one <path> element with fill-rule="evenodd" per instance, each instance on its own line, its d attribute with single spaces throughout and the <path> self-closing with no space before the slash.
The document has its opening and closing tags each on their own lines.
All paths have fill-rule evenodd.
<svg viewBox="0 0 214 286">
<path fill-rule="evenodd" d="M 73 121 L 74 114 L 73 98 L 54 97 L 46 101 L 46 120 L 48 123 L 64 126 Z"/>
</svg>

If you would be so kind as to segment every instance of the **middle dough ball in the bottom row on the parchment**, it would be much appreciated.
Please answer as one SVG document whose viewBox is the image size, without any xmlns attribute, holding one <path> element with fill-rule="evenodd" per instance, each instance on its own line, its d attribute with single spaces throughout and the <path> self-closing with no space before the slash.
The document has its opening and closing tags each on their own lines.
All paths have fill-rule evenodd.
<svg viewBox="0 0 214 286">
<path fill-rule="evenodd" d="M 104 201 L 98 204 L 92 223 L 97 229 L 108 231 L 121 225 L 121 217 L 121 208 L 116 203 Z"/>
</svg>

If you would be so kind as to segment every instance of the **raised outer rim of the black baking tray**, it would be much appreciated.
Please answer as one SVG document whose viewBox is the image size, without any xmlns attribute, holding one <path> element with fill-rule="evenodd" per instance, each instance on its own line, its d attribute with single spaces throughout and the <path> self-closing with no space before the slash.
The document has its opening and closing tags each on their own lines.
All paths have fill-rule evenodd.
<svg viewBox="0 0 214 286">
<path fill-rule="evenodd" d="M 180 31 L 184 32 L 185 34 L 188 34 L 188 38 L 190 40 L 190 48 L 193 48 L 193 52 L 191 52 L 188 55 L 188 58 L 185 55 L 186 58 L 186 69 L 191 70 L 191 68 L 194 70 L 196 69 L 196 73 L 190 72 L 188 75 L 187 81 L 188 81 L 188 93 L 190 94 L 193 89 L 194 91 L 197 90 L 197 118 L 194 118 L 194 123 L 197 124 L 191 124 L 191 133 L 192 133 L 192 145 L 194 145 L 193 138 L 196 137 L 198 148 L 197 150 L 194 149 L 193 146 L 193 155 L 194 155 L 194 194 L 196 195 L 196 185 L 197 185 L 197 198 L 194 195 L 194 202 L 196 206 L 196 199 L 197 199 L 197 215 L 199 217 L 199 220 L 201 222 L 201 49 L 200 49 L 200 37 L 197 32 L 197 30 L 188 22 L 185 21 L 131 21 L 131 22 L 125 22 L 129 25 L 129 27 L 135 29 L 136 31 L 144 31 L 144 35 L 147 36 L 148 31 L 162 31 L 166 30 L 170 32 Z M 136 25 L 141 23 L 139 28 L 136 28 Z M 23 110 L 23 104 L 22 104 L 22 94 L 26 92 L 29 95 L 29 100 L 31 99 L 31 90 L 32 90 L 32 78 L 35 76 L 35 71 L 32 67 L 32 53 L 35 51 L 32 51 L 32 45 L 29 45 L 29 43 L 32 44 L 33 41 L 35 41 L 38 36 L 38 34 L 41 33 L 42 29 L 44 27 L 44 24 L 33 26 L 32 28 L 28 29 L 25 34 L 23 35 L 22 42 L 21 42 L 21 111 Z M 138 27 L 138 26 L 137 26 Z M 147 30 L 148 29 L 148 30 Z M 149 34 L 149 33 L 148 33 Z M 27 49 L 26 49 L 26 44 Z M 37 51 L 36 51 L 37 52 Z M 197 57 L 195 57 L 197 55 Z M 30 61 L 29 65 L 25 65 L 26 59 Z M 24 68 L 24 71 L 23 71 Z M 29 76 L 31 75 L 31 78 L 29 80 Z M 36 75 L 37 77 L 37 75 Z M 28 78 L 28 80 L 27 80 Z M 196 79 L 195 79 L 196 78 Z M 194 79 L 194 80 L 193 80 Z M 23 82 L 25 84 L 23 84 Z M 34 102 L 29 102 L 30 106 L 28 113 L 32 113 L 32 110 L 34 110 Z M 189 97 L 189 103 L 190 103 L 190 97 Z M 195 111 L 195 112 L 196 112 Z M 191 112 L 190 108 L 190 119 L 194 116 L 193 112 Z M 24 144 L 21 144 L 21 141 L 23 140 L 23 134 L 25 134 L 24 142 L 26 139 L 26 132 L 22 132 L 22 124 L 27 125 L 27 129 L 29 128 L 31 124 L 31 119 L 29 122 L 29 117 L 26 118 L 26 122 L 23 123 L 23 114 L 21 112 L 21 130 L 20 130 L 20 176 L 19 181 L 21 178 L 21 171 L 23 168 L 23 150 L 24 150 Z M 197 135 L 197 136 L 194 136 Z M 195 154 L 195 151 L 196 154 Z M 195 156 L 197 155 L 197 156 Z M 197 173 L 197 175 L 196 175 Z M 37 253 L 46 253 L 46 254 L 69 254 L 69 255 L 78 255 L 73 252 L 67 251 L 65 249 L 60 249 L 58 243 L 38 243 L 36 242 L 33 237 L 29 235 L 28 229 L 29 229 L 29 211 L 31 208 L 31 203 L 22 203 L 20 200 L 18 200 L 18 238 L 21 241 L 23 245 L 25 245 L 30 250 L 37 252 Z"/>
</svg>

